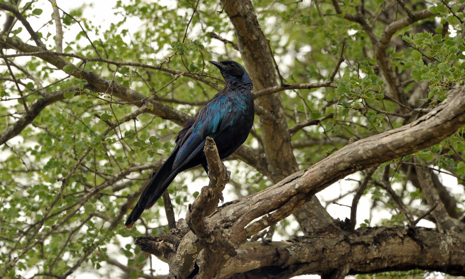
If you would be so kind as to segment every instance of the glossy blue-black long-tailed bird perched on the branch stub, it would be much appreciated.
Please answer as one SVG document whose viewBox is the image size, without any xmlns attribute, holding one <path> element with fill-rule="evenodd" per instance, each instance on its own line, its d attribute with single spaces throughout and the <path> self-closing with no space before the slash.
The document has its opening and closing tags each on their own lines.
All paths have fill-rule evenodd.
<svg viewBox="0 0 465 279">
<path fill-rule="evenodd" d="M 246 69 L 233 60 L 208 61 L 215 65 L 226 87 L 204 104 L 175 136 L 175 147 L 163 165 L 152 175 L 139 201 L 128 215 L 126 228 L 133 227 L 145 209 L 151 208 L 180 172 L 202 165 L 208 166 L 203 148 L 211 137 L 221 160 L 233 154 L 244 143 L 252 129 L 254 104 L 252 79 Z"/>
</svg>

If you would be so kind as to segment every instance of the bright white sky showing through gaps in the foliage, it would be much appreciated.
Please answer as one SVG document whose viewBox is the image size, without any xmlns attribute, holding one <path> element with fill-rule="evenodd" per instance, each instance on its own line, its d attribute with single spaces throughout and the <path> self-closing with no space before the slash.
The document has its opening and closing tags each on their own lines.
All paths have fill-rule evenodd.
<svg viewBox="0 0 465 279">
<path fill-rule="evenodd" d="M 162 1 L 159 1 L 159 2 L 162 2 L 164 3 L 165 5 L 175 5 L 175 1 L 172 1 L 172 0 L 162 0 Z M 86 20 L 92 20 L 93 21 L 93 24 L 94 25 L 101 25 L 101 28 L 100 29 L 107 29 L 111 23 L 115 23 L 115 22 L 118 22 L 122 19 L 122 16 L 119 15 L 119 16 L 115 16 L 113 13 L 114 11 L 111 9 L 113 6 L 115 6 L 116 4 L 116 0 L 105 0 L 105 1 L 98 1 L 98 0 L 83 0 L 83 1 L 70 1 L 70 0 L 57 0 L 57 5 L 62 8 L 63 10 L 65 10 L 66 12 L 69 12 L 71 11 L 73 8 L 76 8 L 76 7 L 79 7 L 83 4 L 91 4 L 92 6 L 91 7 L 86 7 L 84 9 L 84 12 L 83 12 L 83 15 L 82 17 L 86 18 Z M 50 2 L 48 2 L 47 0 L 39 0 L 37 1 L 37 3 L 34 4 L 34 7 L 35 8 L 41 8 L 44 12 L 42 13 L 42 15 L 38 18 L 38 19 L 33 19 L 31 18 L 31 23 L 32 23 L 32 26 L 35 28 L 35 29 L 38 29 L 40 26 L 42 26 L 44 24 L 44 18 L 46 17 L 46 15 L 50 15 L 53 13 L 52 11 L 52 6 L 50 4 Z M 5 19 L 5 15 L 2 14 L 2 16 L 0 17 L 0 26 L 3 26 L 3 20 Z M 127 28 L 128 30 L 137 30 L 141 27 L 141 24 L 142 22 L 139 20 L 139 19 L 129 19 L 127 22 L 126 22 L 126 26 L 124 26 L 124 28 Z M 18 26 L 20 26 L 20 24 L 18 24 Z M 47 27 L 45 27 L 47 28 Z M 54 26 L 50 26 L 48 27 L 49 29 L 49 32 L 51 32 L 53 35 L 55 33 L 55 30 L 54 30 Z M 64 36 L 65 36 L 65 39 L 68 38 L 69 40 L 75 38 L 77 32 L 80 32 L 80 27 L 77 26 L 77 25 L 73 25 L 71 27 L 71 31 L 65 31 L 64 33 Z M 91 40 L 94 40 L 94 39 L 98 39 L 98 37 L 95 35 L 95 34 L 92 34 L 92 33 L 88 33 L 89 37 Z M 27 32 L 26 30 L 23 30 L 20 34 L 19 34 L 20 37 L 22 38 L 26 38 L 28 39 L 27 37 Z M 102 38 L 103 39 L 103 38 Z M 232 39 L 232 38 L 228 38 L 228 39 Z M 214 42 L 215 40 L 213 40 Z M 219 44 L 219 46 L 221 46 L 222 43 Z M 165 54 L 163 54 L 164 56 Z M 285 63 L 285 61 L 283 61 Z M 292 63 L 292 61 L 290 61 L 289 63 Z M 15 141 L 20 141 L 21 138 L 16 138 L 16 139 L 12 139 L 12 143 L 14 143 Z M 228 167 L 228 169 L 231 168 L 231 167 Z M 234 173 L 233 169 L 232 170 L 232 173 Z M 465 197 L 465 193 L 464 193 L 464 188 L 462 186 L 458 186 L 457 185 L 457 179 L 450 176 L 450 175 L 444 175 L 444 174 L 440 174 L 439 175 L 440 178 L 443 180 L 445 186 L 449 189 L 449 191 L 451 192 L 452 195 L 461 195 L 462 199 L 463 197 Z M 360 179 L 360 175 L 359 174 L 354 174 L 354 175 L 349 175 L 348 177 L 351 177 L 353 179 Z M 202 186 L 206 185 L 205 183 L 205 179 L 198 179 L 192 183 L 189 183 L 188 184 L 188 189 L 189 189 L 189 192 L 192 194 L 193 192 L 195 191 L 198 191 Z M 355 189 L 356 187 L 358 186 L 358 184 L 356 182 L 351 182 L 351 181 L 345 181 L 345 180 L 341 180 L 335 184 L 333 184 L 332 186 L 324 189 L 323 191 L 319 192 L 317 194 L 317 197 L 319 198 L 320 201 L 322 201 L 322 204 L 325 205 L 325 202 L 324 201 L 330 201 L 330 200 L 333 200 L 337 197 L 339 197 L 339 195 L 342 195 L 342 194 L 345 194 L 346 192 L 348 191 L 351 191 L 352 189 Z M 395 188 L 396 185 L 393 185 L 393 187 Z M 399 187 L 399 185 L 397 186 Z M 229 188 L 229 189 L 228 189 Z M 226 186 L 226 189 L 224 191 L 225 193 L 225 201 L 231 201 L 234 196 L 231 195 L 230 193 L 232 192 L 232 186 L 229 185 L 229 186 Z M 229 194 L 228 194 L 229 193 Z M 340 199 L 338 201 L 339 204 L 342 204 L 342 205 L 348 205 L 350 206 L 351 203 L 352 203 L 352 197 L 353 197 L 353 194 L 351 195 L 347 195 L 345 196 L 344 198 Z M 369 219 L 370 216 L 370 207 L 371 207 L 371 199 L 370 199 L 370 196 L 369 195 L 365 195 L 365 196 L 362 196 L 362 198 L 360 199 L 360 202 L 359 202 L 359 207 L 358 207 L 358 210 L 357 210 L 357 227 L 359 226 L 360 223 L 363 223 L 363 221 L 365 219 Z M 345 206 L 341 206 L 341 205 L 336 205 L 336 204 L 331 204 L 328 206 L 327 208 L 328 210 L 328 213 L 332 215 L 332 217 L 334 218 L 339 218 L 340 220 L 345 220 L 345 218 L 349 218 L 350 216 L 350 208 L 348 207 L 345 207 Z M 180 216 L 181 217 L 184 217 L 185 213 L 181 213 Z M 375 210 L 374 211 L 374 215 L 372 216 L 372 221 L 370 223 L 370 225 L 374 226 L 374 225 L 380 225 L 380 221 L 382 219 L 389 219 L 391 217 L 391 214 L 387 211 L 387 210 Z M 293 220 L 291 218 L 291 220 Z M 293 221 L 293 223 L 291 224 L 291 226 L 289 227 L 289 233 L 292 232 L 292 229 L 295 229 L 297 228 L 298 224 L 297 222 Z M 419 222 L 418 226 L 425 226 L 425 227 L 432 227 L 433 224 L 429 221 L 425 221 L 425 220 L 422 220 Z M 123 237 L 119 237 L 119 240 L 120 240 L 120 243 L 121 243 L 121 246 L 124 247 L 126 244 L 131 244 L 133 245 L 133 238 L 131 237 L 127 237 L 127 238 L 123 238 Z M 282 236 L 280 236 L 279 234 L 275 234 L 274 237 L 273 237 L 273 240 L 285 240 L 283 239 Z M 111 245 L 108 245 L 108 249 L 109 251 L 111 251 L 112 247 Z M 119 247 L 113 247 L 113 250 L 116 252 L 114 253 L 114 255 L 118 255 L 118 250 L 119 250 Z M 126 264 L 127 263 L 127 258 L 123 255 L 120 255 L 120 256 L 117 256 L 115 257 L 116 260 L 119 260 L 121 263 L 123 264 Z M 155 275 L 162 275 L 162 274 L 167 274 L 168 273 L 168 265 L 160 260 L 158 260 L 157 258 L 153 257 L 153 266 L 154 266 L 154 269 L 155 269 Z M 103 267 L 105 268 L 105 267 Z M 147 265 L 144 269 L 148 269 L 149 266 Z M 119 271 L 118 268 L 116 268 L 116 270 Z M 23 273 L 23 276 L 25 276 L 26 278 L 27 277 L 30 277 L 32 276 L 36 271 L 34 270 L 31 270 L 31 271 L 27 271 L 27 272 L 24 272 Z M 113 274 L 114 276 L 112 277 L 120 277 L 122 273 L 120 272 L 116 272 L 116 274 Z M 71 276 L 73 278 L 76 278 L 76 279 L 100 279 L 100 278 L 104 278 L 104 277 L 101 277 L 101 275 L 99 273 L 94 273 L 94 272 L 89 272 L 89 271 L 84 271 L 83 269 L 79 269 L 78 271 L 76 271 L 75 273 L 73 273 L 73 275 Z M 299 279 L 316 279 L 316 278 L 319 278 L 319 276 L 317 275 L 304 275 L 304 276 L 298 276 L 298 277 L 295 277 L 296 279 L 299 278 Z"/>
</svg>

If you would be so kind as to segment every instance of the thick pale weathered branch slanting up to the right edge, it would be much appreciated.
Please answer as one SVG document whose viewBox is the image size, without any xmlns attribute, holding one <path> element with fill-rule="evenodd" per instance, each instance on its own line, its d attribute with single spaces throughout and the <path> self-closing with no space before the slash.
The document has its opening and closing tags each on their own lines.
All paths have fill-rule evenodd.
<svg viewBox="0 0 465 279">
<path fill-rule="evenodd" d="M 465 89 L 462 89 L 453 101 L 436 107 L 424 117 L 398 129 L 347 145 L 305 171 L 299 171 L 272 187 L 219 208 L 211 218 L 220 223 L 235 221 L 230 229 L 231 235 L 245 240 L 247 236 L 264 229 L 266 224 L 292 213 L 311 195 L 338 179 L 438 143 L 464 123 Z M 273 210 L 276 212 L 244 229 L 250 221 Z"/>
</svg>

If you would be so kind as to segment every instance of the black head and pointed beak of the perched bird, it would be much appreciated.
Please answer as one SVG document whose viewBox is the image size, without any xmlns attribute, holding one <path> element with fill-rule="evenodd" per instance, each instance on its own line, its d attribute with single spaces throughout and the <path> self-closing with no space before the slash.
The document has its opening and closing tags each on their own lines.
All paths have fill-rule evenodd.
<svg viewBox="0 0 465 279">
<path fill-rule="evenodd" d="M 233 84 L 243 84 L 252 90 L 252 79 L 249 77 L 246 69 L 233 60 L 224 60 L 220 62 L 208 61 L 217 66 L 219 72 L 226 81 L 226 87 Z"/>
</svg>

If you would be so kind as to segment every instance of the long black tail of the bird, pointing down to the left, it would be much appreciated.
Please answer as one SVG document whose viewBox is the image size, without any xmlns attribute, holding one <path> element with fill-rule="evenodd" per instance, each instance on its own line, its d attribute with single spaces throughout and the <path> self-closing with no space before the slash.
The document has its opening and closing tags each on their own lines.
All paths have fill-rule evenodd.
<svg viewBox="0 0 465 279">
<path fill-rule="evenodd" d="M 178 148 L 173 150 L 173 153 L 166 159 L 165 163 L 158 169 L 158 171 L 152 176 L 150 182 L 148 182 L 144 192 L 140 195 L 139 201 L 134 207 L 133 211 L 127 216 L 126 223 L 124 224 L 126 228 L 132 228 L 133 224 L 137 219 L 139 219 L 140 214 L 144 212 L 145 209 L 149 209 L 157 202 L 157 200 L 163 195 L 166 188 L 174 180 L 174 177 L 179 173 L 176 169 L 173 172 L 173 162 L 176 154 L 178 153 Z"/>
</svg>

